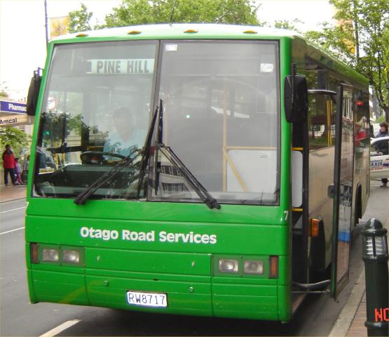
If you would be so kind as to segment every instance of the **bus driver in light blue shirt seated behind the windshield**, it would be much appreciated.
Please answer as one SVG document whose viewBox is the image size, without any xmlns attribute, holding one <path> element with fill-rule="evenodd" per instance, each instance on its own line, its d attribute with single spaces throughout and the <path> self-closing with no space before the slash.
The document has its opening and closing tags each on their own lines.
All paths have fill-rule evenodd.
<svg viewBox="0 0 389 337">
<path fill-rule="evenodd" d="M 142 147 L 146 133 L 139 130 L 135 124 L 135 115 L 128 107 L 118 107 L 112 115 L 116 133 L 109 135 L 105 145 L 104 152 L 121 154 L 128 156 L 132 150 Z"/>
</svg>

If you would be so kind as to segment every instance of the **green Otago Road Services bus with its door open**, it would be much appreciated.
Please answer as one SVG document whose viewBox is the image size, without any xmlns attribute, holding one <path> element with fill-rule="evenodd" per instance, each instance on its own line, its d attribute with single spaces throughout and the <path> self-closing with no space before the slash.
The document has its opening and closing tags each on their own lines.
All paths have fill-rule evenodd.
<svg viewBox="0 0 389 337">
<path fill-rule="evenodd" d="M 296 34 L 57 37 L 27 105 L 32 303 L 288 322 L 346 284 L 368 83 Z"/>
</svg>

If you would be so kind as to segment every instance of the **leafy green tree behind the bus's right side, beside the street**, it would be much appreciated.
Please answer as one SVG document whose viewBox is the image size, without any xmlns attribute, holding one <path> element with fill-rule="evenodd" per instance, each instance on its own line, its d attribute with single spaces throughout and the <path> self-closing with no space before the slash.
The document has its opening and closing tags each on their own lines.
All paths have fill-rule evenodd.
<svg viewBox="0 0 389 337">
<path fill-rule="evenodd" d="M 325 23 L 322 32 L 307 32 L 306 37 L 364 74 L 388 118 L 388 0 L 329 2 L 338 24 Z"/>
</svg>

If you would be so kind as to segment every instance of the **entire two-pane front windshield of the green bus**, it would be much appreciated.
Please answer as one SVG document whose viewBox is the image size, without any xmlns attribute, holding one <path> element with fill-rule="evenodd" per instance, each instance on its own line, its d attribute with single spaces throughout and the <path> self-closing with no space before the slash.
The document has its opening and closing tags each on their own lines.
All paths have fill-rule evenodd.
<svg viewBox="0 0 389 337">
<path fill-rule="evenodd" d="M 278 204 L 278 63 L 275 41 L 55 46 L 36 147 L 34 194 L 76 197 L 133 155 L 132 164 L 90 198 L 201 202 L 163 151 L 151 151 L 149 183 L 137 194 L 142 157 L 137 154 L 162 100 L 163 144 L 212 197 L 221 203 Z"/>
</svg>

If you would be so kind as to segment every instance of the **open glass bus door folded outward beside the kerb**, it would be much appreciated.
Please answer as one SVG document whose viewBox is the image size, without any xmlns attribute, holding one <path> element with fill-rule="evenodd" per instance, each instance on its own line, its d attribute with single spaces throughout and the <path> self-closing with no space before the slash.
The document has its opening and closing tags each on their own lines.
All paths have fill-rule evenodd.
<svg viewBox="0 0 389 337">
<path fill-rule="evenodd" d="M 334 211 L 332 218 L 331 297 L 348 282 L 351 209 L 353 203 L 353 88 L 341 84 L 336 93 Z"/>
</svg>

